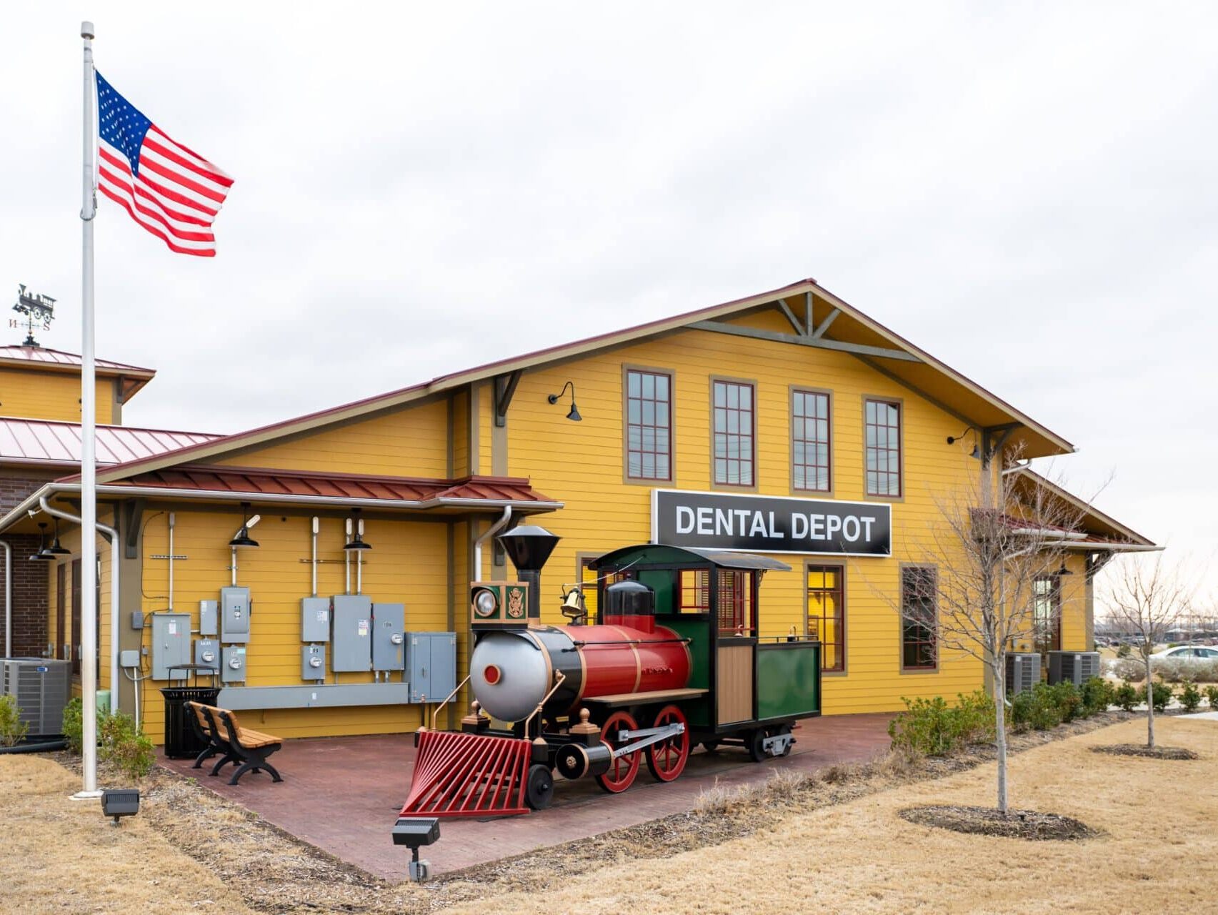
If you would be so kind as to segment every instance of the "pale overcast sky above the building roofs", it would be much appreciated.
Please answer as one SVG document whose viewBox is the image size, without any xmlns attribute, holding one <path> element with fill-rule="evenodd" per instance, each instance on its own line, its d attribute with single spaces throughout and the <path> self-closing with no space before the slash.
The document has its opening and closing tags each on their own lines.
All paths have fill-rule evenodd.
<svg viewBox="0 0 1218 915">
<path fill-rule="evenodd" d="M 1218 548 L 1214 4 L 6 4 L 0 290 L 79 351 L 80 40 L 235 184 L 100 203 L 129 425 L 228 433 L 804 277 Z M 851 5 L 861 6 L 861 5 Z M 19 342 L 17 331 L 7 331 Z"/>
</svg>

